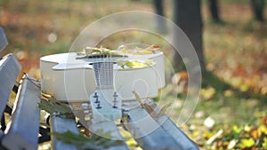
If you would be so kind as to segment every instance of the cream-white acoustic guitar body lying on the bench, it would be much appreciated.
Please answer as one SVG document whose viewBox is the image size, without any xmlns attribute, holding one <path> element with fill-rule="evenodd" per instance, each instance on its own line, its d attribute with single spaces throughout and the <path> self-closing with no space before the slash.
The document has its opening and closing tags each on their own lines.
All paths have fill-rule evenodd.
<svg viewBox="0 0 267 150">
<path fill-rule="evenodd" d="M 41 90 L 55 99 L 69 102 L 88 101 L 97 91 L 93 65 L 85 59 L 77 59 L 76 52 L 53 54 L 40 59 Z M 127 54 L 128 60 L 154 60 L 150 67 L 122 68 L 114 64 L 113 91 L 123 100 L 135 99 L 132 91 L 141 98 L 158 96 L 158 89 L 165 86 L 163 52 L 152 54 Z"/>
</svg>

